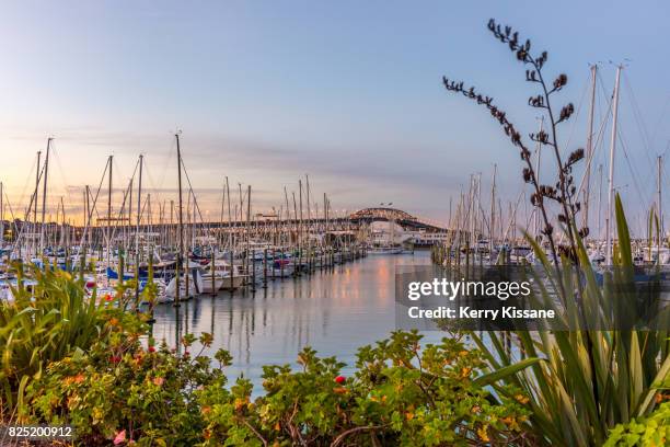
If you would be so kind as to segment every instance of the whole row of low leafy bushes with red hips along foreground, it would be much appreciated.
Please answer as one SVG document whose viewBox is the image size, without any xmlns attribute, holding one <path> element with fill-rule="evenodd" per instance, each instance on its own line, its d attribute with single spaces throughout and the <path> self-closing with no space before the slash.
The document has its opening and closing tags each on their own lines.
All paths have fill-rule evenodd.
<svg viewBox="0 0 670 447">
<path fill-rule="evenodd" d="M 478 351 L 459 340 L 419 348 L 417 333 L 395 332 L 358 353 L 357 371 L 304 348 L 298 362 L 266 366 L 265 394 L 252 398 L 241 377 L 227 387 L 231 357 L 213 362 L 164 343 L 143 347 L 134 313 L 109 317 L 108 336 L 88 353 L 51 363 L 27 387 L 22 417 L 72 424 L 77 442 L 108 445 L 532 445 L 528 397 L 493 399 L 483 387 Z M 199 337 L 203 347 L 211 336 Z"/>
</svg>

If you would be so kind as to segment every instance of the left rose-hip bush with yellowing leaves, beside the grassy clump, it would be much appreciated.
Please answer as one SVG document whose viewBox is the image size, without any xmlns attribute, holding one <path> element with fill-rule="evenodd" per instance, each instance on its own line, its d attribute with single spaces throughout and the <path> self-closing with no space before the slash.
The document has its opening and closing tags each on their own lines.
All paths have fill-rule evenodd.
<svg viewBox="0 0 670 447">
<path fill-rule="evenodd" d="M 205 386 L 222 388 L 222 366 L 212 369 L 209 358 L 190 356 L 194 340 L 182 341 L 177 355 L 140 336 L 145 324 L 132 313 L 112 319 L 109 336 L 88 354 L 51 363 L 47 374 L 26 390 L 28 421 L 71 424 L 82 445 L 108 445 L 123 434 L 138 446 L 194 445 L 204 422 L 196 392 Z M 211 336 L 200 336 L 203 348 Z M 124 432 L 125 431 L 125 432 Z"/>
</svg>

